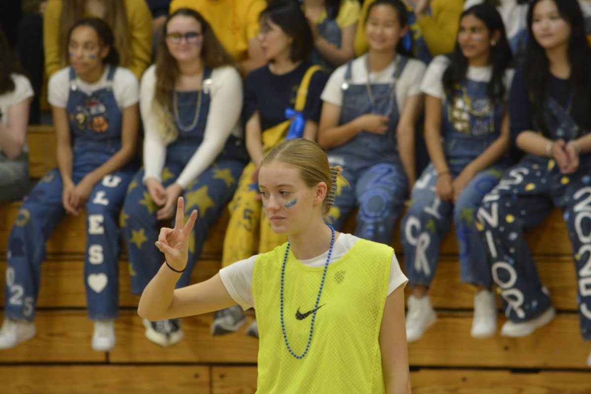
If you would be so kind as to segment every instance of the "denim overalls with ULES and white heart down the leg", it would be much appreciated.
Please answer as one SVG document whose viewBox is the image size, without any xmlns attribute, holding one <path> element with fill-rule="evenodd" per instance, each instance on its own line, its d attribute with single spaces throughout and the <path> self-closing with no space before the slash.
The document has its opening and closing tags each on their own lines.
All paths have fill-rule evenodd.
<svg viewBox="0 0 591 394">
<path fill-rule="evenodd" d="M 121 149 L 122 111 L 112 92 L 116 67 L 109 67 L 109 86 L 86 95 L 78 89 L 70 69 L 66 106 L 72 132 L 72 180 L 77 184 Z M 97 183 L 86 202 L 85 285 L 91 320 L 112 320 L 119 312 L 119 210 L 125 190 L 137 170 L 131 162 Z M 6 315 L 33 320 L 41 282 L 45 243 L 66 215 L 63 184 L 56 168 L 28 195 L 8 240 Z"/>
</svg>

